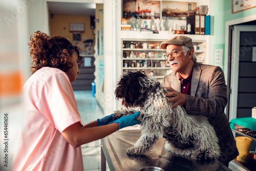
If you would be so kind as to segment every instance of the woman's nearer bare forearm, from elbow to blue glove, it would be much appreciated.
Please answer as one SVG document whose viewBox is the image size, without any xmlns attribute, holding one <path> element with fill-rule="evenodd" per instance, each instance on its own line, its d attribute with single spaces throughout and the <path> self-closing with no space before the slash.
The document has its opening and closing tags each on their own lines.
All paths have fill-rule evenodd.
<svg viewBox="0 0 256 171">
<path fill-rule="evenodd" d="M 68 141 L 68 143 L 76 148 L 82 144 L 104 138 L 116 132 L 118 129 L 118 123 L 97 126 L 97 121 L 93 121 L 81 127 L 80 122 L 76 122 L 67 127 L 61 135 Z"/>
</svg>

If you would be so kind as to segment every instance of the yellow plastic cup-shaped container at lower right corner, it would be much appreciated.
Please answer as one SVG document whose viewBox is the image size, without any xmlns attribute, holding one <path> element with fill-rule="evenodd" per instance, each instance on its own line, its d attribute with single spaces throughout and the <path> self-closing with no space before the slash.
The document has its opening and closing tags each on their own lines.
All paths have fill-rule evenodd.
<svg viewBox="0 0 256 171">
<path fill-rule="evenodd" d="M 251 141 L 248 137 L 236 137 L 239 152 L 238 161 L 245 162 L 249 158 Z"/>
</svg>

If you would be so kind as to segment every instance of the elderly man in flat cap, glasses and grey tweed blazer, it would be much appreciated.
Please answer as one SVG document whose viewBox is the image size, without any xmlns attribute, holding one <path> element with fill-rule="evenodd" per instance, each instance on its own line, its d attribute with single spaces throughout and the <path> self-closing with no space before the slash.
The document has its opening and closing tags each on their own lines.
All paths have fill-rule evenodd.
<svg viewBox="0 0 256 171">
<path fill-rule="evenodd" d="M 160 45 L 166 49 L 165 59 L 173 73 L 165 76 L 163 86 L 169 91 L 165 95 L 169 102 L 184 106 L 188 115 L 206 116 L 216 131 L 221 147 L 220 162 L 228 163 L 239 153 L 224 113 L 227 104 L 227 86 L 220 67 L 203 65 L 194 55 L 192 39 L 175 36 Z"/>
</svg>

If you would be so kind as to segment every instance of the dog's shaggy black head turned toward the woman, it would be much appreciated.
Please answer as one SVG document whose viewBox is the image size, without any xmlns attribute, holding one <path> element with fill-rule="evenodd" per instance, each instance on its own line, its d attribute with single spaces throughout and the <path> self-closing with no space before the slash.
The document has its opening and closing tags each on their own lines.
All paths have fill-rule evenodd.
<svg viewBox="0 0 256 171">
<path fill-rule="evenodd" d="M 123 72 L 115 90 L 116 99 L 122 99 L 126 108 L 142 108 L 148 93 L 154 93 L 160 82 L 141 71 Z"/>
</svg>

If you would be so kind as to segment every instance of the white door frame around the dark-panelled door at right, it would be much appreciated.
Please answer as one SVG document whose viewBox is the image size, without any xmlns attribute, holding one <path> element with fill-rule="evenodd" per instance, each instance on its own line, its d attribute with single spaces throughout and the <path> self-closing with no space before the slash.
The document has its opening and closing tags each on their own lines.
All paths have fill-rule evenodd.
<svg viewBox="0 0 256 171">
<path fill-rule="evenodd" d="M 230 68 L 228 67 L 229 66 L 229 62 L 230 61 L 230 27 L 232 27 L 233 25 L 238 25 L 238 24 L 241 24 L 241 23 L 246 23 L 246 22 L 251 22 L 253 20 L 255 20 L 256 18 L 256 15 L 251 15 L 251 16 L 248 16 L 248 17 L 243 17 L 243 18 L 239 18 L 239 19 L 234 19 L 234 20 L 230 20 L 228 22 L 226 22 L 225 24 L 225 53 L 224 53 L 224 75 L 225 75 L 225 78 L 228 78 L 226 79 L 227 80 L 227 84 L 228 85 L 231 85 L 233 83 L 233 88 L 232 88 L 232 95 L 230 94 L 230 97 L 229 97 L 229 106 L 230 106 L 230 109 L 229 109 L 229 121 L 233 118 L 237 118 L 237 97 L 238 97 L 238 66 L 236 65 L 239 65 L 239 62 L 238 63 L 234 63 L 234 66 L 233 63 L 231 65 L 231 68 L 232 67 L 237 67 L 237 72 L 236 73 L 230 73 Z M 240 36 L 240 35 L 239 35 Z M 232 49 L 232 54 L 234 54 L 235 52 L 233 52 L 234 50 Z M 238 49 L 238 53 L 239 54 L 239 49 Z M 236 55 L 236 54 L 235 54 Z M 232 61 L 233 62 L 233 61 Z M 234 61 L 236 62 L 236 61 Z M 231 71 L 232 72 L 232 71 Z M 230 77 L 230 79 L 229 79 Z M 236 79 L 237 80 L 236 80 Z M 237 81 L 237 82 L 232 82 L 231 81 Z M 229 82 L 230 81 L 230 82 Z M 230 89 L 230 88 L 229 88 Z M 237 90 L 237 91 L 236 91 Z M 230 91 L 229 91 L 230 92 Z"/>
</svg>

